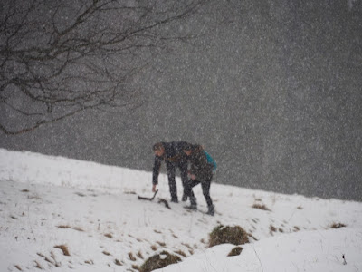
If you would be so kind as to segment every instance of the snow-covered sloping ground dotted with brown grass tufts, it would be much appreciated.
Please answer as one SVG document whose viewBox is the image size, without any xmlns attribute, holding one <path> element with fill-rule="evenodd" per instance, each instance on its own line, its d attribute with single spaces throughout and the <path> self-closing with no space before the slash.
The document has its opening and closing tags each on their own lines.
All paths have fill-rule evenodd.
<svg viewBox="0 0 362 272">
<path fill-rule="evenodd" d="M 165 272 L 362 271 L 360 202 L 213 183 L 210 217 L 183 202 L 167 209 L 158 203 L 169 199 L 167 178 L 159 183 L 156 199 L 141 201 L 137 194 L 151 196 L 148 172 L 0 149 L 0 271 L 136 271 L 162 250 L 183 259 Z M 195 194 L 206 210 L 199 187 Z M 207 248 L 220 223 L 257 240 L 226 257 L 233 245 Z"/>
</svg>

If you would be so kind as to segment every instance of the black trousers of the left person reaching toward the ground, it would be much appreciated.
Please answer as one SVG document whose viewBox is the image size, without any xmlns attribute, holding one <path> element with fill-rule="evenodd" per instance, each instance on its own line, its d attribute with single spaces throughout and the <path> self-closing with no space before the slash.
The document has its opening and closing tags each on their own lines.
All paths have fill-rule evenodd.
<svg viewBox="0 0 362 272">
<path fill-rule="evenodd" d="M 188 183 L 187 178 L 187 161 L 180 162 L 167 162 L 167 177 L 168 177 L 168 185 L 170 189 L 171 199 L 177 199 L 177 187 L 176 187 L 176 168 L 178 168 L 181 172 L 181 181 L 182 186 L 184 187 L 184 194 L 186 193 L 186 186 Z"/>
</svg>

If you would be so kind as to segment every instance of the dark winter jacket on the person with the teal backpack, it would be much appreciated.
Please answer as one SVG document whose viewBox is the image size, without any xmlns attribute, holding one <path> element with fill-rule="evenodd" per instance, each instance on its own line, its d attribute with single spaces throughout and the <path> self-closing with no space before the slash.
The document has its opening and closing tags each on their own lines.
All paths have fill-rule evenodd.
<svg viewBox="0 0 362 272">
<path fill-rule="evenodd" d="M 190 161 L 190 173 L 194 174 L 196 180 L 210 182 L 213 178 L 213 166 L 207 162 L 206 154 L 201 145 L 192 145 L 191 155 L 187 157 Z"/>
</svg>

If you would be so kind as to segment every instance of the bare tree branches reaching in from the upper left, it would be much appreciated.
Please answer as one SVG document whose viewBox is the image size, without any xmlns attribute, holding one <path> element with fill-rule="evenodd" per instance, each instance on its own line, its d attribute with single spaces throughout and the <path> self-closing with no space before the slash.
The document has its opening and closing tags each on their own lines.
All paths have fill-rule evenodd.
<svg viewBox="0 0 362 272">
<path fill-rule="evenodd" d="M 203 0 L 3 0 L 0 129 L 32 131 L 88 109 L 135 105 L 146 55 L 189 37 Z M 177 23 L 177 24 L 176 24 Z"/>
</svg>

